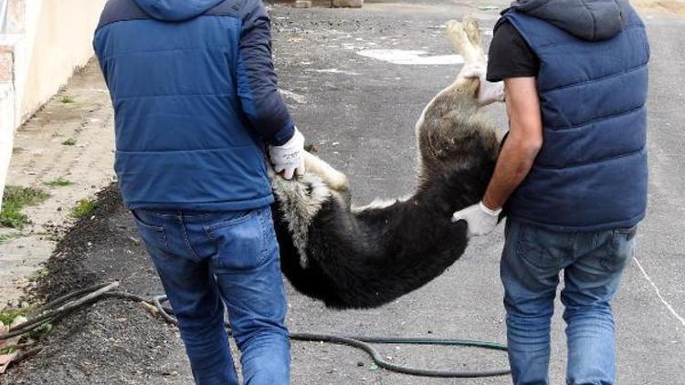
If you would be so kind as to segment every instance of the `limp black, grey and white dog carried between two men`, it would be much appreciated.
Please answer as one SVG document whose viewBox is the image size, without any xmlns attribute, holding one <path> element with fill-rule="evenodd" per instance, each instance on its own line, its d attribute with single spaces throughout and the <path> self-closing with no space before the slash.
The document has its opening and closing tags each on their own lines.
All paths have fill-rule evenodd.
<svg viewBox="0 0 685 385">
<path fill-rule="evenodd" d="M 479 26 L 467 18 L 447 34 L 467 63 L 485 58 Z M 479 202 L 499 151 L 478 111 L 478 79 L 458 77 L 416 122 L 418 185 L 403 200 L 350 205 L 347 178 L 307 153 L 307 173 L 271 173 L 281 269 L 303 294 L 336 308 L 378 307 L 442 274 L 468 243 L 452 213 Z"/>
</svg>

